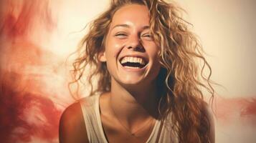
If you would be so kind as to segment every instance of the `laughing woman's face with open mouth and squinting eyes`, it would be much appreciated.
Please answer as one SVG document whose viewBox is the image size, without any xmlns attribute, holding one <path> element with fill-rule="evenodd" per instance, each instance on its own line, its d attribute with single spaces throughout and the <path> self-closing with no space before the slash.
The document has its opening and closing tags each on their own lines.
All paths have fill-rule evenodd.
<svg viewBox="0 0 256 143">
<path fill-rule="evenodd" d="M 156 79 L 161 67 L 159 50 L 151 38 L 148 8 L 129 4 L 115 12 L 100 61 L 106 61 L 111 80 L 147 85 Z"/>
</svg>

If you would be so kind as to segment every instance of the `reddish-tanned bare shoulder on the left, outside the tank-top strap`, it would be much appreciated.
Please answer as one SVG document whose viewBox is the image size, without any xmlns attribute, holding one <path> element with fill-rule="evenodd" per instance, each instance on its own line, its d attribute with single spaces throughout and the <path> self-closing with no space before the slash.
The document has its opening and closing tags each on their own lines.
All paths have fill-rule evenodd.
<svg viewBox="0 0 256 143">
<path fill-rule="evenodd" d="M 59 128 L 60 143 L 88 142 L 80 102 L 71 104 L 62 113 Z"/>
</svg>

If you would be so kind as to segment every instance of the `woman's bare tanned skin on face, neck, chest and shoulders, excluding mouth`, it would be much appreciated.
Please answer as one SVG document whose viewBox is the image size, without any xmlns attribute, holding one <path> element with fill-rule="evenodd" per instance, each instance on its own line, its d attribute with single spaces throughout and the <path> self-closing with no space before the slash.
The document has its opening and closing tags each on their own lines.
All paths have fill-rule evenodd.
<svg viewBox="0 0 256 143">
<path fill-rule="evenodd" d="M 148 9 L 138 4 L 120 8 L 110 24 L 105 51 L 99 57 L 100 61 L 106 62 L 111 75 L 111 92 L 100 96 L 100 117 L 108 142 L 146 142 L 158 117 L 155 79 L 161 64 L 157 57 L 159 48 L 151 38 L 148 26 Z M 125 69 L 119 60 L 127 55 L 142 56 L 148 64 L 139 71 Z M 141 138 L 132 137 L 125 128 L 131 132 L 138 130 L 136 134 Z M 62 114 L 60 142 L 88 142 L 86 134 L 77 102 Z M 210 137 L 214 139 L 213 124 Z"/>
</svg>

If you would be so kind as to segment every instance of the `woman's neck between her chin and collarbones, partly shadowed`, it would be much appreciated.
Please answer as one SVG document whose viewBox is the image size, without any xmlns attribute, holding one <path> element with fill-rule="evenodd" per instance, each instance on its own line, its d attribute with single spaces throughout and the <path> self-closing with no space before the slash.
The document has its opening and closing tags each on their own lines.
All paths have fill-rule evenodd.
<svg viewBox="0 0 256 143">
<path fill-rule="evenodd" d="M 158 117 L 158 96 L 155 83 L 135 88 L 124 87 L 115 80 L 111 82 L 110 106 L 128 127 Z"/>
</svg>

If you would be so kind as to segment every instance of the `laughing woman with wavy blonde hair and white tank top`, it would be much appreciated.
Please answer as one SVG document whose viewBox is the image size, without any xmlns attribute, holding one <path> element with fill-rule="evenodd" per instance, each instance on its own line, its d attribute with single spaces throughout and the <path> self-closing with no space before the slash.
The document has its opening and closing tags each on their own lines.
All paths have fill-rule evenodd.
<svg viewBox="0 0 256 143">
<path fill-rule="evenodd" d="M 163 0 L 115 0 L 90 25 L 74 62 L 92 67 L 89 97 L 67 107 L 60 142 L 214 142 L 211 68 L 179 8 Z M 97 78 L 95 78 L 97 77 Z"/>
</svg>

